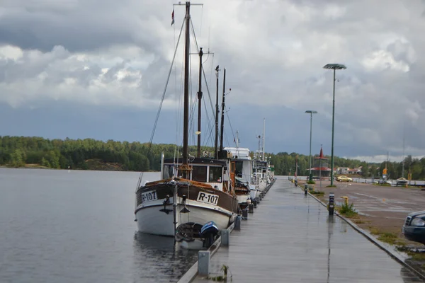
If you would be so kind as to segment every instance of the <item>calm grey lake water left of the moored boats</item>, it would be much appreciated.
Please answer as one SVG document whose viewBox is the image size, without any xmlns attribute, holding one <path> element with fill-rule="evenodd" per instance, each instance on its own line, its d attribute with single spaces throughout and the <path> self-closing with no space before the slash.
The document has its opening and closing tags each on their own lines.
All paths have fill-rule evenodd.
<svg viewBox="0 0 425 283">
<path fill-rule="evenodd" d="M 173 238 L 137 233 L 138 178 L 0 168 L 0 282 L 178 281 L 198 254 L 174 248 Z"/>
</svg>

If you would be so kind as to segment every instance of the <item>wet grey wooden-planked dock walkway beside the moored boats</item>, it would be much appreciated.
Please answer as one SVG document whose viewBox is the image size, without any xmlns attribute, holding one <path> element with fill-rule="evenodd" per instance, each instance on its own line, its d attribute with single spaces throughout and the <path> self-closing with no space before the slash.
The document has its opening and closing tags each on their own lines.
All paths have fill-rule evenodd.
<svg viewBox="0 0 425 283">
<path fill-rule="evenodd" d="M 232 282 L 424 282 L 287 179 L 276 180 L 230 246 L 211 258 Z M 196 277 L 193 282 L 212 280 Z M 228 280 L 229 282 L 229 280 Z"/>
</svg>

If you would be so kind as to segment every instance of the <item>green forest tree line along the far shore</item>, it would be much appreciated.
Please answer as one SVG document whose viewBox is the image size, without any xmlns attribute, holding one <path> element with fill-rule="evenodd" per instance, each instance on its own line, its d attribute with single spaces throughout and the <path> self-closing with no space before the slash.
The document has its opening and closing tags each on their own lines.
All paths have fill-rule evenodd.
<svg viewBox="0 0 425 283">
<path fill-rule="evenodd" d="M 149 149 L 150 146 L 150 149 Z M 96 169 L 89 161 L 97 160 L 101 163 L 118 164 L 118 170 L 123 171 L 159 171 L 161 154 L 165 158 L 172 158 L 176 154 L 174 144 L 149 144 L 138 141 L 99 141 L 95 139 L 44 139 L 42 137 L 9 137 L 0 136 L 0 165 L 9 167 L 23 167 L 27 164 L 37 164 L 46 168 L 58 169 Z M 213 151 L 212 147 L 203 146 L 201 151 Z M 196 155 L 196 146 L 189 146 L 189 152 Z M 181 151 L 177 151 L 181 154 Z M 266 154 L 270 156 L 276 175 L 293 175 L 297 160 L 297 175 L 308 175 L 309 156 L 295 152 L 279 152 Z M 329 158 L 329 156 L 327 156 Z M 313 159 L 314 161 L 314 159 Z M 330 158 L 329 158 L 330 163 Z M 362 175 L 367 178 L 382 174 L 384 163 L 367 163 L 348 158 L 334 156 L 334 168 L 358 168 L 362 166 Z M 379 169 L 378 169 L 379 168 Z M 101 168 L 100 168 L 101 169 Z M 390 178 L 402 176 L 402 162 L 388 162 Z M 404 177 L 412 173 L 412 179 L 425 178 L 425 158 L 417 159 L 407 156 L 404 159 Z"/>
</svg>

